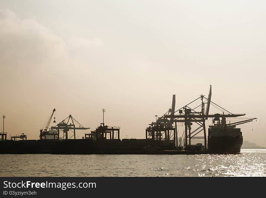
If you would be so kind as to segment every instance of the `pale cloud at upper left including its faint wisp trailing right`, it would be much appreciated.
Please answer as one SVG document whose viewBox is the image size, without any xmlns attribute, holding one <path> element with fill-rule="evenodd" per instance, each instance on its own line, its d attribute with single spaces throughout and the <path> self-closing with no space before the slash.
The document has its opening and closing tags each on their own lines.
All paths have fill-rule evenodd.
<svg viewBox="0 0 266 198">
<path fill-rule="evenodd" d="M 39 24 L 34 16 L 21 19 L 11 10 L 0 9 L 0 60 L 1 67 L 6 69 L 33 69 L 42 65 L 38 69 L 53 67 L 56 70 L 66 70 L 66 63 L 76 62 L 76 59 L 93 62 L 92 59 L 96 56 L 94 48 L 102 47 L 103 44 L 97 37 L 73 37 L 65 41 Z M 91 56 L 88 57 L 88 54 Z"/>
</svg>

